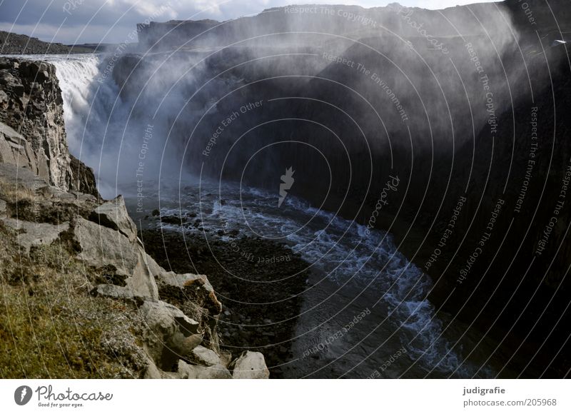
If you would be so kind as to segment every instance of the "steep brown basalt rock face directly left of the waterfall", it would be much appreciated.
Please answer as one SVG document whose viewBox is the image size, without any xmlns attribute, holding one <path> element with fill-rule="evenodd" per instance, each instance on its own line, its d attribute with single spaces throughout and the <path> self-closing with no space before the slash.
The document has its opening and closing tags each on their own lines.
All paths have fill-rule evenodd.
<svg viewBox="0 0 571 414">
<path fill-rule="evenodd" d="M 29 144 L 25 163 L 64 191 L 98 196 L 91 168 L 69 154 L 62 103 L 53 65 L 0 59 L 0 122 Z"/>
</svg>

